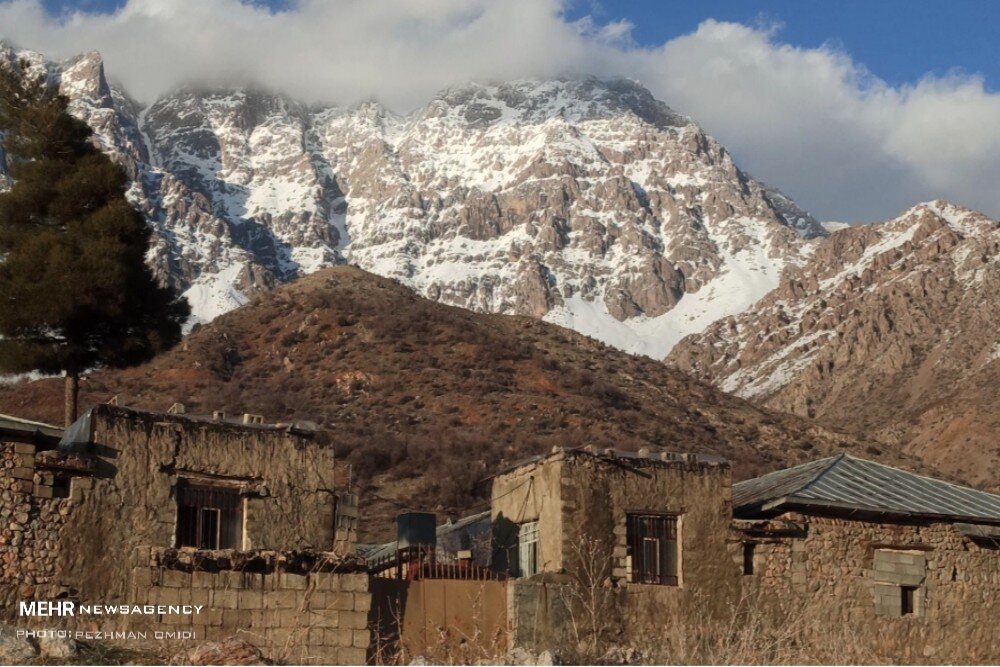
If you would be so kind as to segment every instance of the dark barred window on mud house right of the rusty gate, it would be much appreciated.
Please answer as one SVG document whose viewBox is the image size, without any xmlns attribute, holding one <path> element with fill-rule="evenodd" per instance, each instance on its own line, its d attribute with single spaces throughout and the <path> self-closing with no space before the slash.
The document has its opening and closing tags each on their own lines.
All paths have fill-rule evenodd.
<svg viewBox="0 0 1000 667">
<path fill-rule="evenodd" d="M 632 557 L 632 583 L 678 585 L 676 516 L 629 514 L 626 539 Z"/>
</svg>

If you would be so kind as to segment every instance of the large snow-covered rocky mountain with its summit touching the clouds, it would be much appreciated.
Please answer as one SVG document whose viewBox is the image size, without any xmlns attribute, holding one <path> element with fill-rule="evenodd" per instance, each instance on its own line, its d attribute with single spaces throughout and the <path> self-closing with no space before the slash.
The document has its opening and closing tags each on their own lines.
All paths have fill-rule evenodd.
<svg viewBox="0 0 1000 667">
<path fill-rule="evenodd" d="M 469 84 L 400 116 L 253 90 L 140 108 L 89 53 L 47 68 L 133 178 L 150 261 L 206 321 L 338 263 L 661 358 L 828 234 L 638 84 Z"/>
</svg>

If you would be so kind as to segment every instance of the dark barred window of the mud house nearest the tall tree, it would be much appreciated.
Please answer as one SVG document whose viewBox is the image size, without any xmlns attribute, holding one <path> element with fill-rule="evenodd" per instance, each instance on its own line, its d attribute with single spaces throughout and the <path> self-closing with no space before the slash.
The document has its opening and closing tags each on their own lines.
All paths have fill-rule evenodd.
<svg viewBox="0 0 1000 667">
<path fill-rule="evenodd" d="M 233 488 L 177 484 L 177 546 L 239 549 L 243 546 L 243 500 Z"/>
</svg>

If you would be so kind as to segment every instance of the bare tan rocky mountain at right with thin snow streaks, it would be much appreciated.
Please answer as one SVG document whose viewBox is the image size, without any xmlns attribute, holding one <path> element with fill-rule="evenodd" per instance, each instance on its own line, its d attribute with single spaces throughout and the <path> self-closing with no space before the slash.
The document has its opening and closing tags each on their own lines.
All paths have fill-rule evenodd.
<svg viewBox="0 0 1000 667">
<path fill-rule="evenodd" d="M 944 201 L 835 232 L 668 361 L 725 391 L 995 485 L 1000 223 Z"/>
</svg>

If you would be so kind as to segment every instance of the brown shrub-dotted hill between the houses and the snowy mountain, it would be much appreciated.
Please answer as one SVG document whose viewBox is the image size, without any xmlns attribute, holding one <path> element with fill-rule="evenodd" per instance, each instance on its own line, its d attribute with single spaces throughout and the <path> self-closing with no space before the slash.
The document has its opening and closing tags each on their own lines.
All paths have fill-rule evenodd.
<svg viewBox="0 0 1000 667">
<path fill-rule="evenodd" d="M 59 380 L 0 390 L 0 411 L 57 422 Z M 365 537 L 402 507 L 481 503 L 478 479 L 555 445 L 719 454 L 737 477 L 848 448 L 890 454 L 769 412 L 657 361 L 533 319 L 443 306 L 341 267 L 269 292 L 153 362 L 91 375 L 84 406 L 254 412 L 330 429 L 353 465 Z"/>
</svg>

